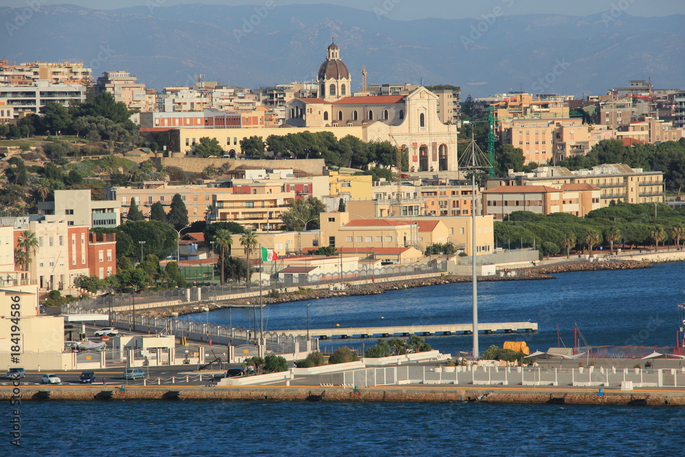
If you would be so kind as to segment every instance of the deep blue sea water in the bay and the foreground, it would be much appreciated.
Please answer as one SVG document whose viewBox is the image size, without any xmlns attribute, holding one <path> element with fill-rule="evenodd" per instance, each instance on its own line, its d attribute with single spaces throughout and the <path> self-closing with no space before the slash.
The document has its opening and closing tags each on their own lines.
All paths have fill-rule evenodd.
<svg viewBox="0 0 685 457">
<path fill-rule="evenodd" d="M 537 334 L 515 336 L 531 349 L 573 345 L 575 325 L 583 344 L 674 345 L 682 319 L 676 305 L 685 301 L 683 273 L 685 264 L 671 263 L 562 273 L 555 280 L 484 282 L 479 317 L 538 322 Z M 471 284 L 280 304 L 265 310 L 266 328 L 306 328 L 307 304 L 310 328 L 467 323 Z M 207 316 L 188 319 L 204 322 Z M 209 319 L 250 325 L 249 310 L 214 311 Z M 510 339 L 482 335 L 480 347 Z M 471 349 L 471 336 L 427 341 L 453 354 Z M 322 346 L 340 344 L 362 341 Z M 9 418 L 10 406 L 3 410 Z M 22 418 L 21 456 L 671 456 L 685 450 L 685 408 L 677 407 L 26 402 Z"/>
</svg>

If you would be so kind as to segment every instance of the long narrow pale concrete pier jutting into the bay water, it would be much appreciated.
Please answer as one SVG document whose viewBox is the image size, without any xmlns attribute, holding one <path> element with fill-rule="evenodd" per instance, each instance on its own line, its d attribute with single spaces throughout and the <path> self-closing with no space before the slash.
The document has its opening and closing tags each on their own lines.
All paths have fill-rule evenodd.
<svg viewBox="0 0 685 457">
<path fill-rule="evenodd" d="M 356 328 L 314 328 L 307 330 L 275 330 L 278 334 L 287 336 L 306 335 L 327 340 L 330 338 L 387 338 L 390 336 L 419 336 L 436 335 L 470 335 L 473 330 L 471 323 L 451 323 L 437 325 L 400 325 L 397 327 L 356 327 Z M 536 322 L 493 322 L 478 323 L 478 332 L 490 333 L 535 333 L 538 331 Z"/>
</svg>

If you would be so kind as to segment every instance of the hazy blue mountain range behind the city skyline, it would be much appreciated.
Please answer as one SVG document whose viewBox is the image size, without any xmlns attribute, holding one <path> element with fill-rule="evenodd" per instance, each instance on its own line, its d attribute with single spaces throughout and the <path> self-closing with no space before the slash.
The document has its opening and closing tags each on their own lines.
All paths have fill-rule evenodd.
<svg viewBox="0 0 685 457">
<path fill-rule="evenodd" d="M 501 16 L 490 25 L 477 19 L 393 21 L 332 5 L 255 8 L 45 5 L 20 26 L 16 15 L 27 8 L 0 7 L 0 58 L 82 60 L 95 77 L 125 69 L 158 89 L 190 84 L 199 74 L 258 88 L 316 77 L 334 35 L 356 88 L 363 64 L 369 84 L 454 84 L 464 97 L 521 89 L 604 93 L 648 77 L 658 88 L 685 86 L 680 14 L 637 18 L 624 12 L 608 23 L 601 14 L 535 14 Z"/>
</svg>

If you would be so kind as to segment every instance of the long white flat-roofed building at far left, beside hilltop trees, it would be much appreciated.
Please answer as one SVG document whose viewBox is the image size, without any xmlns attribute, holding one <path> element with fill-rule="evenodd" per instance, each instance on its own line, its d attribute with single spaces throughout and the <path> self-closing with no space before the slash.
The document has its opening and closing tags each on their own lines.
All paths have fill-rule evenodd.
<svg viewBox="0 0 685 457">
<path fill-rule="evenodd" d="M 12 108 L 12 116 L 18 119 L 26 114 L 38 114 L 48 101 L 69 106 L 72 101 L 84 101 L 86 88 L 79 84 L 51 84 L 38 79 L 21 86 L 0 86 L 0 100 Z"/>
</svg>

